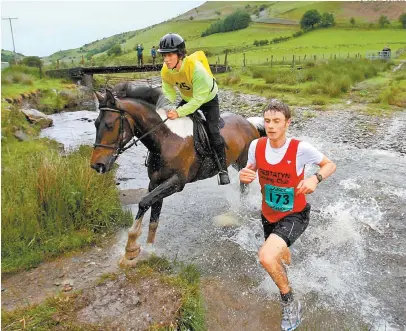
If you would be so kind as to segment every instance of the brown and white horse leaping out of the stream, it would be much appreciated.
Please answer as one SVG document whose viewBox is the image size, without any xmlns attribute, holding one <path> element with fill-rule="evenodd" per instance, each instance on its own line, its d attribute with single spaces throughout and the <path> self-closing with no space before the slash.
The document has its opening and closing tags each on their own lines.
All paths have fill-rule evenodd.
<svg viewBox="0 0 406 331">
<path fill-rule="evenodd" d="M 160 89 L 141 86 L 129 90 L 130 93 L 118 93 L 117 96 L 109 89 L 104 95 L 95 92 L 100 113 L 95 121 L 96 140 L 91 155 L 91 167 L 105 173 L 111 170 L 119 154 L 137 142 L 141 141 L 149 151 L 148 193 L 140 200 L 134 223 L 128 231 L 126 252 L 121 259 L 124 265 L 136 263 L 141 251 L 137 239 L 149 208 L 147 244 L 153 244 L 163 199 L 182 191 L 187 183 L 218 173 L 212 156 L 202 157 L 196 152 L 192 120 L 189 117 L 167 119 L 166 111 L 159 107 Z M 245 119 L 232 113 L 223 113 L 221 118 L 224 127 L 220 133 L 227 146 L 227 166 L 241 170 L 247 163 L 250 143 L 265 136 L 263 118 Z M 240 185 L 244 191 L 245 185 Z"/>
</svg>

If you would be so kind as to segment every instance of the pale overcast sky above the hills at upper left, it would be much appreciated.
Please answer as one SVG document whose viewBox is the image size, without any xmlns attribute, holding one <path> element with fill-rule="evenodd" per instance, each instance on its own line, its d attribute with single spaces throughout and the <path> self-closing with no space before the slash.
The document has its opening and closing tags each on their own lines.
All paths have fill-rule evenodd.
<svg viewBox="0 0 406 331">
<path fill-rule="evenodd" d="M 117 33 L 142 29 L 205 1 L 1 1 L 1 48 L 47 56 Z M 170 32 L 170 31 L 168 31 Z"/>
</svg>

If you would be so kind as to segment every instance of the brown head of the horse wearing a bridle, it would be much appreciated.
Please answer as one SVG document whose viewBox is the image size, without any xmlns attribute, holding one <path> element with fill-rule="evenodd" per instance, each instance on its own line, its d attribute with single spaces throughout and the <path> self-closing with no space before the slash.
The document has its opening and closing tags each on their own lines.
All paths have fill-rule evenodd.
<svg viewBox="0 0 406 331">
<path fill-rule="evenodd" d="M 103 96 L 95 92 L 99 100 L 99 117 L 95 121 L 96 141 L 91 157 L 91 167 L 100 173 L 111 170 L 124 146 L 134 136 L 134 119 L 128 105 L 116 99 L 109 90 Z"/>
</svg>

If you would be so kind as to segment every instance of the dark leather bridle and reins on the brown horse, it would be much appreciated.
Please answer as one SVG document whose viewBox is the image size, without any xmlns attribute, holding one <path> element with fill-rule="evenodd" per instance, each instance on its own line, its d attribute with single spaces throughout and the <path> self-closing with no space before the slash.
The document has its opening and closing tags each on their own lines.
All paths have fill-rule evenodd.
<svg viewBox="0 0 406 331">
<path fill-rule="evenodd" d="M 135 139 L 135 132 L 134 132 L 134 128 L 130 123 L 130 120 L 128 119 L 128 114 L 125 110 L 121 110 L 121 109 L 115 109 L 115 108 L 107 108 L 107 107 L 103 107 L 103 108 L 99 108 L 100 111 L 111 111 L 114 113 L 119 113 L 120 117 L 116 119 L 116 121 L 119 119 L 120 120 L 120 127 L 119 127 L 119 131 L 118 131 L 118 142 L 116 142 L 114 145 L 105 145 L 105 144 L 98 144 L 95 143 L 93 144 L 93 147 L 102 147 L 102 148 L 109 148 L 109 149 L 113 149 L 115 150 L 115 154 L 113 155 L 113 157 L 118 157 L 120 154 L 122 154 L 123 152 L 125 152 L 127 149 L 129 149 L 132 146 L 138 146 L 137 143 L 139 141 L 141 141 L 142 138 L 148 136 L 150 133 L 154 132 L 156 129 L 158 129 L 162 124 L 164 124 L 168 118 L 165 118 L 165 120 L 163 120 L 161 123 L 155 125 L 151 130 L 149 130 L 147 133 L 143 134 L 141 137 L 139 137 L 138 139 Z M 127 146 L 125 146 L 124 144 L 124 121 L 127 121 L 128 126 L 130 127 L 131 130 L 131 135 L 132 135 L 132 142 L 130 144 L 128 144 Z M 115 124 L 115 122 L 114 122 Z"/>
</svg>

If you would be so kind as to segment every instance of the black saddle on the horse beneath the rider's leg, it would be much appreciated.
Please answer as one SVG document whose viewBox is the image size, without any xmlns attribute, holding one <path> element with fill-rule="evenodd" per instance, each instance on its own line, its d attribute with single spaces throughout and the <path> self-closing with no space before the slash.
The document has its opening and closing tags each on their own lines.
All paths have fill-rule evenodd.
<svg viewBox="0 0 406 331">
<path fill-rule="evenodd" d="M 207 122 L 206 118 L 204 117 L 203 113 L 198 110 L 194 113 L 188 115 L 188 117 L 193 121 L 193 142 L 195 146 L 196 153 L 201 156 L 209 156 L 213 155 L 213 151 L 211 148 L 211 142 L 209 136 L 207 134 Z M 219 119 L 219 129 L 222 129 L 225 125 L 224 120 L 220 117 Z M 221 136 L 221 139 L 224 138 Z M 228 149 L 227 144 L 225 143 L 225 147 Z"/>
</svg>

